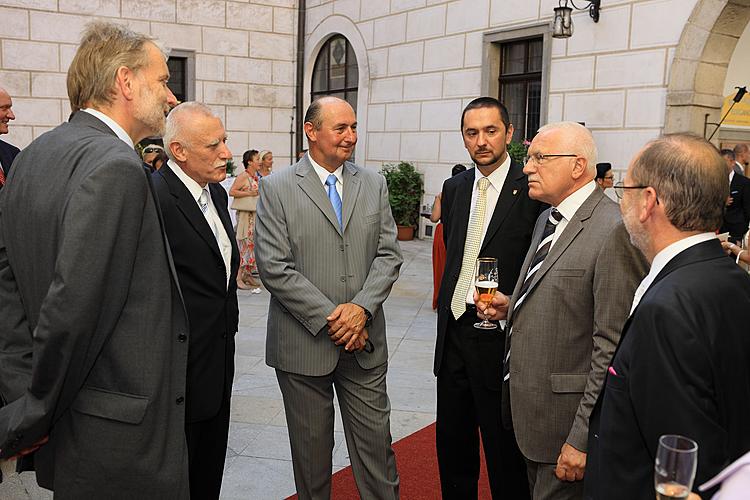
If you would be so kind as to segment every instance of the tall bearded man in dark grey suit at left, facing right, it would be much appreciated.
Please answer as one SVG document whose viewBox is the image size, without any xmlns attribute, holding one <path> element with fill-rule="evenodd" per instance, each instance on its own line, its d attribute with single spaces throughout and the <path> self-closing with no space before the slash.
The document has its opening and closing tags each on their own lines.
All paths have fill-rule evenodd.
<svg viewBox="0 0 750 500">
<path fill-rule="evenodd" d="M 188 498 L 187 317 L 133 144 L 176 104 L 165 54 L 108 23 L 68 71 L 70 122 L 0 192 L 0 458 L 42 444 L 56 499 Z"/>
</svg>

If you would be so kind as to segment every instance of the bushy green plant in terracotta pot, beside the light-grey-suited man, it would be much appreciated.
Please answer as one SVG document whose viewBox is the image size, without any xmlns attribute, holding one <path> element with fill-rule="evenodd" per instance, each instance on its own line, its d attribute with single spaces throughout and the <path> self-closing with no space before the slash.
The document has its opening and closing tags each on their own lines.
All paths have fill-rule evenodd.
<svg viewBox="0 0 750 500">
<path fill-rule="evenodd" d="M 382 170 L 388 185 L 388 201 L 398 227 L 399 240 L 414 238 L 414 229 L 419 220 L 419 204 L 424 189 L 422 176 L 408 162 L 385 165 Z"/>
</svg>

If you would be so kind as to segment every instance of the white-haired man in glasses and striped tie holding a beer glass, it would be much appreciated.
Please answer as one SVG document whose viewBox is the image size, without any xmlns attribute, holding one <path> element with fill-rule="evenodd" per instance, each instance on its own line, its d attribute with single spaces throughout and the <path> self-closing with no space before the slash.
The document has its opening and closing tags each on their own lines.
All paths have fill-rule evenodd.
<svg viewBox="0 0 750 500">
<path fill-rule="evenodd" d="M 617 204 L 596 186 L 596 154 L 577 123 L 539 129 L 524 173 L 529 196 L 552 207 L 509 304 L 496 296 L 489 310 L 495 319 L 508 311 L 503 413 L 535 500 L 583 495 L 589 415 L 646 272 Z"/>
</svg>

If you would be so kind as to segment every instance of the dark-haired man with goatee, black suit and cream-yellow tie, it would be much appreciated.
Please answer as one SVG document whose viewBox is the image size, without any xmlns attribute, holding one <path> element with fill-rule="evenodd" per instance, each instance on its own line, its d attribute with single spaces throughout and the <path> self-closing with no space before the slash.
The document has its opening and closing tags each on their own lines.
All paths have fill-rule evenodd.
<svg viewBox="0 0 750 500">
<path fill-rule="evenodd" d="M 524 463 L 513 434 L 500 421 L 504 336 L 474 328 L 473 274 L 477 257 L 495 257 L 499 288 L 512 291 L 541 204 L 529 198 L 522 166 L 506 151 L 513 125 L 505 106 L 491 97 L 473 100 L 461 116 L 461 133 L 476 168 L 448 179 L 442 191 L 447 254 L 434 368 L 440 484 L 443 498 L 477 497 L 481 431 L 493 497 L 523 498 L 528 495 Z M 472 219 L 482 204 L 483 220 Z"/>
</svg>

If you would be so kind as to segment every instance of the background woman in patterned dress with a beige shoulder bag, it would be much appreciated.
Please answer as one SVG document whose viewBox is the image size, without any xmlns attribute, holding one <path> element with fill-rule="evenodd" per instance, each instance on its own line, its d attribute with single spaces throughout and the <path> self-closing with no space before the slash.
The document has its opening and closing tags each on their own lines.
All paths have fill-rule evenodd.
<svg viewBox="0 0 750 500">
<path fill-rule="evenodd" d="M 258 168 L 260 167 L 258 151 L 251 149 L 242 155 L 245 170 L 241 172 L 229 189 L 229 196 L 246 198 L 258 196 Z M 237 271 L 237 288 L 260 293 L 260 283 L 253 277 L 255 268 L 255 211 L 237 210 L 237 245 L 240 248 L 240 268 Z"/>
</svg>

